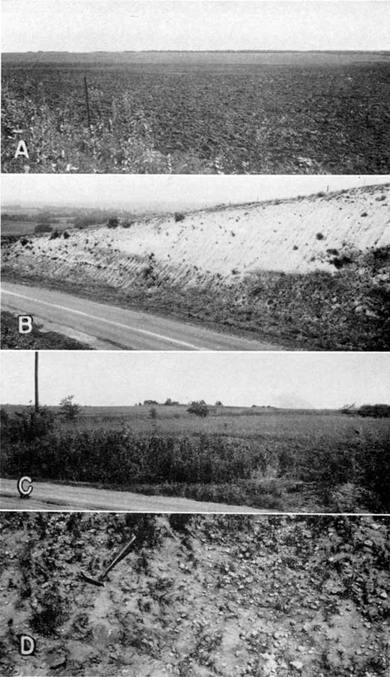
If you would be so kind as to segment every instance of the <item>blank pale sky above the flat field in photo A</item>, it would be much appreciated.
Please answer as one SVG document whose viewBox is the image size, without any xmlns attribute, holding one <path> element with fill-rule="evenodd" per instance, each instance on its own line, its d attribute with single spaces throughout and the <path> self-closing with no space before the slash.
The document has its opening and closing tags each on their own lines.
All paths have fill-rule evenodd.
<svg viewBox="0 0 390 677">
<path fill-rule="evenodd" d="M 389 50 L 374 0 L 1 0 L 2 49 Z"/>
</svg>

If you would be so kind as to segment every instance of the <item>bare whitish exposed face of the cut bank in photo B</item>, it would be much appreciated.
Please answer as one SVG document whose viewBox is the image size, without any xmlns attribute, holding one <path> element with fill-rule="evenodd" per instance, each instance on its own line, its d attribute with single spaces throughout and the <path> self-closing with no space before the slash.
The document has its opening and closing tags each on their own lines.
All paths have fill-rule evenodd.
<svg viewBox="0 0 390 677">
<path fill-rule="evenodd" d="M 129 228 L 91 226 L 6 248 L 21 270 L 113 287 L 237 282 L 256 270 L 335 273 L 334 260 L 390 245 L 390 187 L 152 216 Z"/>
</svg>

